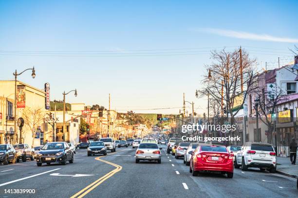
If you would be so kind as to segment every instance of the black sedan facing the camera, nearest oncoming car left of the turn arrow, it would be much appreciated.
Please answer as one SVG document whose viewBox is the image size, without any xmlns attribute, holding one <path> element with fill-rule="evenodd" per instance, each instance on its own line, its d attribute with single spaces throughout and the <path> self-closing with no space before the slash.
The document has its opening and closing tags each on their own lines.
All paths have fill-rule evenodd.
<svg viewBox="0 0 298 198">
<path fill-rule="evenodd" d="M 74 162 L 74 152 L 66 142 L 53 142 L 45 144 L 37 154 L 37 166 L 42 163 L 62 163 L 63 165 L 69 161 Z"/>
</svg>

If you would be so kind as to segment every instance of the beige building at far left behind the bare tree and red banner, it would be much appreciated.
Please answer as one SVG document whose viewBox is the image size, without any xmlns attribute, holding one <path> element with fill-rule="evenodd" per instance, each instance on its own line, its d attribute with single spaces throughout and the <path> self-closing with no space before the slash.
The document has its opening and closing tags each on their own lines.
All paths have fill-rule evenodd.
<svg viewBox="0 0 298 198">
<path fill-rule="evenodd" d="M 0 144 L 10 143 L 16 144 L 19 142 L 32 145 L 35 141 L 35 132 L 42 126 L 42 118 L 45 111 L 45 92 L 35 87 L 18 81 L 17 85 L 22 89 L 23 94 L 18 97 L 22 103 L 17 108 L 17 117 L 15 118 L 15 81 L 3 80 L 0 81 Z M 42 87 L 42 86 L 40 86 Z M 39 111 L 38 111 L 39 109 Z M 22 128 L 22 139 L 20 140 L 20 131 L 17 126 L 17 131 L 14 131 L 14 119 L 24 117 L 24 112 L 29 118 L 31 124 L 25 124 Z M 30 114 L 37 112 L 37 116 Z M 33 121 L 35 117 L 35 121 Z M 30 120 L 31 119 L 31 120 Z"/>
</svg>

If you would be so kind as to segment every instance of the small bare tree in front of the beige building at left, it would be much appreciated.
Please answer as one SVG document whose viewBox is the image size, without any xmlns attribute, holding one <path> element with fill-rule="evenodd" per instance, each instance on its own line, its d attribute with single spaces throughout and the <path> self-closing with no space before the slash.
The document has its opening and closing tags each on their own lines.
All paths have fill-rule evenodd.
<svg viewBox="0 0 298 198">
<path fill-rule="evenodd" d="M 23 110 L 22 117 L 24 119 L 24 123 L 28 126 L 32 132 L 32 145 L 34 144 L 34 136 L 37 130 L 37 126 L 39 126 L 44 118 L 44 113 L 42 108 L 30 108 L 26 107 Z"/>
</svg>

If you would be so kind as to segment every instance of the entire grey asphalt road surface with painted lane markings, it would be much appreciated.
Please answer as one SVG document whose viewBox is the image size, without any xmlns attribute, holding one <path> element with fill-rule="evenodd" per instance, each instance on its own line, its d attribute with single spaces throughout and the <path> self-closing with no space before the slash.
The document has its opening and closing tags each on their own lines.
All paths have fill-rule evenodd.
<svg viewBox="0 0 298 198">
<path fill-rule="evenodd" d="M 27 161 L 0 165 L 0 197 L 298 197 L 296 180 L 259 169 L 235 169 L 232 179 L 220 174 L 193 177 L 182 159 L 176 160 L 162 147 L 161 164 L 135 163 L 136 149 L 130 146 L 116 148 L 117 152 L 105 157 L 87 157 L 85 149 L 78 150 L 73 164 L 37 167 L 35 161 Z M 9 189 L 34 189 L 35 193 L 5 193 Z"/>
</svg>

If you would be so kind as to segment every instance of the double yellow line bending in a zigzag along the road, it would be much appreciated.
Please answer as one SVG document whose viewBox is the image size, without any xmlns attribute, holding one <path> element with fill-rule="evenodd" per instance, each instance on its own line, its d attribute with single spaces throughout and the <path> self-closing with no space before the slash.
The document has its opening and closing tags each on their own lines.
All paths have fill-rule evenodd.
<svg viewBox="0 0 298 198">
<path fill-rule="evenodd" d="M 126 150 L 126 149 L 125 149 Z M 123 151 L 123 150 L 122 150 Z M 121 151 L 118 151 L 118 152 L 121 152 Z M 115 154 L 117 152 L 114 152 L 112 154 Z M 112 155 L 110 154 L 110 155 Z M 108 162 L 108 161 L 105 161 L 105 160 L 102 160 L 100 158 L 102 157 L 105 157 L 105 156 L 100 156 L 100 157 L 97 157 L 95 158 L 95 160 L 98 160 L 98 161 L 101 161 L 101 162 L 104 162 L 104 163 L 108 163 L 112 166 L 115 166 L 116 168 L 114 170 L 112 170 L 111 172 L 107 173 L 106 175 L 102 176 L 101 178 L 99 178 L 98 180 L 94 181 L 93 183 L 89 184 L 88 186 L 86 186 L 84 189 L 80 190 L 79 192 L 77 192 L 75 195 L 73 195 L 71 198 L 82 198 L 84 197 L 85 195 L 87 195 L 90 191 L 92 191 L 94 188 L 96 188 L 98 185 L 100 185 L 102 182 L 104 182 L 105 180 L 108 180 L 109 178 L 111 178 L 115 173 L 121 171 L 122 169 L 122 166 L 120 165 L 117 165 L 115 163 L 112 163 L 112 162 Z"/>
</svg>

